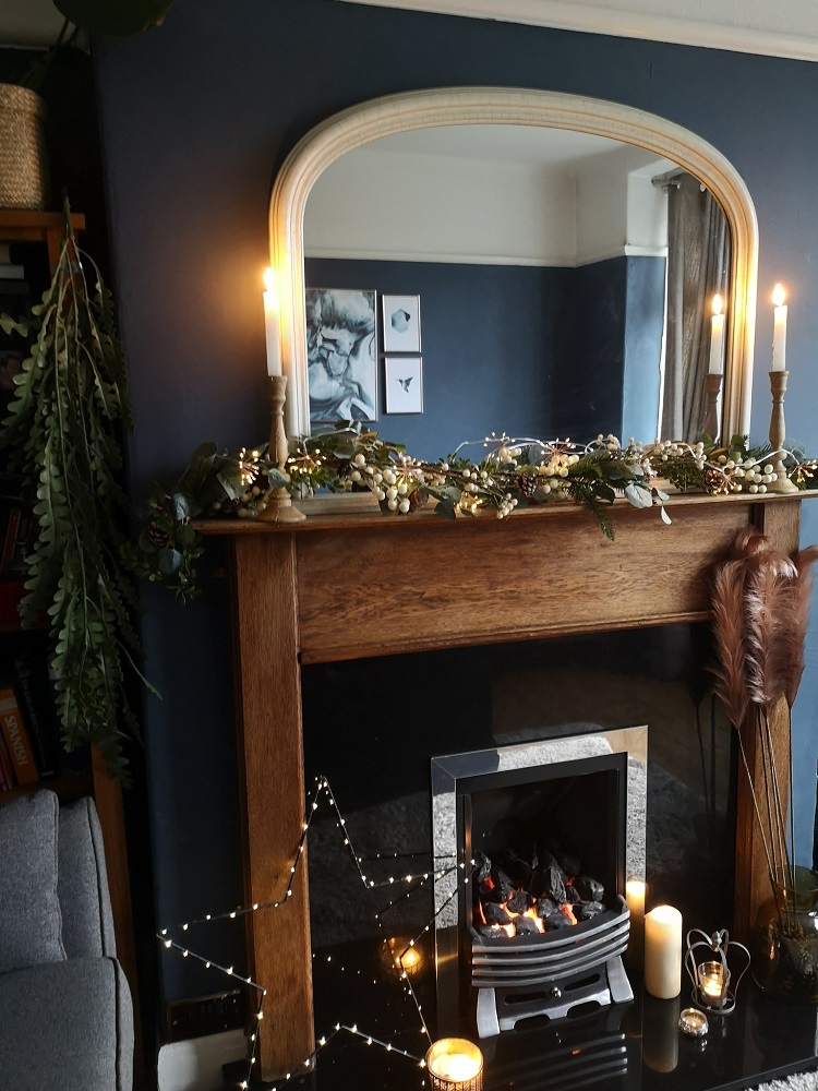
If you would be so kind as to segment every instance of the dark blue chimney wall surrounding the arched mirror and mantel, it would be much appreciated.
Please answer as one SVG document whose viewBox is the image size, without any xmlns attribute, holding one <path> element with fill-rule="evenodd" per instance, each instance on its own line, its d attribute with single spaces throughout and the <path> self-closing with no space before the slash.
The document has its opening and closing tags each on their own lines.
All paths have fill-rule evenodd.
<svg viewBox="0 0 818 1091">
<path fill-rule="evenodd" d="M 267 202 L 284 156 L 344 107 L 435 85 L 612 99 L 720 148 L 746 180 L 760 225 L 754 433 L 762 439 L 768 428 L 766 297 L 781 279 L 792 292 L 790 431 L 815 446 L 818 67 L 337 0 L 177 0 L 161 28 L 107 41 L 97 56 L 137 422 L 135 499 L 156 480 L 172 480 L 204 440 L 238 445 L 266 435 L 260 277 Z M 818 513 L 805 506 L 805 537 L 816 540 Z M 228 622 L 218 596 L 180 610 L 152 594 L 146 604 L 148 671 L 165 695 L 148 704 L 145 720 L 157 912 L 159 923 L 172 923 L 241 897 Z M 798 788 L 810 807 L 809 817 L 801 815 L 805 829 L 815 783 L 814 659 L 796 722 Z M 180 966 L 165 962 L 169 993 L 213 987 L 206 975 L 183 978 Z"/>
</svg>

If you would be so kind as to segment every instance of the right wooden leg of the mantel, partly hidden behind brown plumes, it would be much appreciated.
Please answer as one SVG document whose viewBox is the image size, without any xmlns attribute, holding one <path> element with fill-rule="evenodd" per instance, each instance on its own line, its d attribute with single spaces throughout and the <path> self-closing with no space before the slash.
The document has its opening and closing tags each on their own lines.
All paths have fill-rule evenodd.
<svg viewBox="0 0 818 1091">
<path fill-rule="evenodd" d="M 798 526 L 801 504 L 762 504 L 755 508 L 756 526 L 766 535 L 770 547 L 782 553 L 792 553 L 798 548 Z M 770 734 L 775 769 L 781 789 L 781 802 L 786 814 L 790 795 L 790 721 L 785 702 L 781 700 L 770 715 Z M 749 775 L 756 792 L 763 794 L 763 768 L 761 748 L 757 733 L 747 731 L 745 755 Z M 738 780 L 736 790 L 736 886 L 735 886 L 735 938 L 747 940 L 759 908 L 772 897 L 767 854 L 761 838 L 758 817 L 753 802 L 744 762 L 738 758 Z"/>
</svg>

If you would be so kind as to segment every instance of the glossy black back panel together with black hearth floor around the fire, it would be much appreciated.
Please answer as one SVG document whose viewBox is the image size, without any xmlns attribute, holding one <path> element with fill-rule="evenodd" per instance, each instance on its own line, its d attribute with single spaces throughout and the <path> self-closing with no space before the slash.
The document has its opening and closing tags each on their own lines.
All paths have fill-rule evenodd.
<svg viewBox="0 0 818 1091">
<path fill-rule="evenodd" d="M 431 883 L 432 758 L 553 739 L 555 733 L 648 726 L 646 864 L 651 897 L 684 927 L 732 921 L 736 755 L 708 694 L 706 626 L 566 637 L 525 645 L 304 668 L 308 788 L 325 775 L 366 874 L 363 890 L 334 815 L 309 837 L 316 1039 L 357 1024 L 420 1058 L 429 1044 L 416 1005 L 384 958 L 386 934 L 422 935 L 412 984 L 437 1033 Z M 407 895 L 406 897 L 404 895 Z M 686 981 L 686 979 L 685 979 Z M 635 1000 L 553 1022 L 526 1021 L 480 1043 L 485 1091 L 725 1091 L 818 1066 L 818 1014 L 762 996 L 745 979 L 734 1015 L 712 1020 L 703 1050 L 682 1039 L 677 1002 Z M 286 1012 L 281 1015 L 286 1018 Z M 275 1026 L 276 1012 L 265 1011 Z M 460 1033 L 476 1041 L 466 1017 Z M 448 1031 L 452 1033 L 453 1031 Z M 229 1086 L 246 1078 L 233 1068 Z M 270 1084 L 274 1086 L 274 1084 Z M 349 1034 L 321 1052 L 292 1091 L 416 1091 L 416 1063 Z"/>
</svg>

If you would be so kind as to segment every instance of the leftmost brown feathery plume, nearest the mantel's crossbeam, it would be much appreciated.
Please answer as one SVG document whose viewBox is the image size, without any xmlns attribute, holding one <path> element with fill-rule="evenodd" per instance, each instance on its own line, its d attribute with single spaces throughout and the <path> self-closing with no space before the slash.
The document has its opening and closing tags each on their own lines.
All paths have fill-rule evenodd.
<svg viewBox="0 0 818 1091">
<path fill-rule="evenodd" d="M 749 708 L 744 673 L 744 560 L 725 561 L 713 574 L 714 690 L 736 728 L 744 723 Z"/>
</svg>

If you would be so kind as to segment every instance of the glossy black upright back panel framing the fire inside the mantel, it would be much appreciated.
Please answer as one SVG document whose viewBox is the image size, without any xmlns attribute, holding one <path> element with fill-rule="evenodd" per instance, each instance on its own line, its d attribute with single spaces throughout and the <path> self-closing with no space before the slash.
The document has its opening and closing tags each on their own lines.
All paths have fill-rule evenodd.
<svg viewBox="0 0 818 1091">
<path fill-rule="evenodd" d="M 648 820 L 645 831 L 642 815 L 640 851 L 651 900 L 676 906 L 706 931 L 723 927 L 733 909 L 737 764 L 730 724 L 718 709 L 713 716 L 708 662 L 707 626 L 674 625 L 305 667 L 308 787 L 320 774 L 329 779 L 368 880 L 375 883 L 362 888 L 335 816 L 322 808 L 308 856 L 316 1034 L 340 1019 L 410 1052 L 417 1046 L 417 1011 L 389 975 L 384 935 L 398 950 L 416 939 L 411 985 L 432 1035 L 474 1033 L 469 963 L 454 1007 L 442 1003 L 438 976 L 450 969 L 450 955 L 434 925 L 424 932 L 437 894 L 423 875 L 444 870 L 436 867 L 443 864 L 440 852 L 454 856 L 455 866 L 457 858 L 454 844 L 435 846 L 432 828 L 430 763 L 440 755 L 493 753 L 496 771 L 496 754 L 509 747 L 589 730 L 592 736 L 600 729 L 617 736 L 623 724 L 648 723 Z M 450 817 L 454 823 L 454 803 Z M 603 824 L 589 818 L 591 832 L 594 825 Z M 562 829 L 556 836 L 580 853 L 582 843 L 573 835 Z M 631 851 L 626 846 L 625 879 Z M 615 898 L 618 884 L 603 867 L 597 874 L 596 859 L 584 864 L 605 886 L 605 899 L 609 892 Z M 445 914 L 437 923 L 446 926 Z M 612 1007 L 601 1008 L 554 1020 L 537 1033 L 556 1034 L 562 1026 L 567 1041 L 568 1024 L 606 1028 L 613 1016 Z M 522 1036 L 520 1029 L 483 1041 L 505 1056 L 514 1053 L 510 1040 Z M 554 1048 L 562 1048 L 556 1040 Z"/>
</svg>

